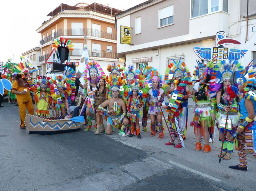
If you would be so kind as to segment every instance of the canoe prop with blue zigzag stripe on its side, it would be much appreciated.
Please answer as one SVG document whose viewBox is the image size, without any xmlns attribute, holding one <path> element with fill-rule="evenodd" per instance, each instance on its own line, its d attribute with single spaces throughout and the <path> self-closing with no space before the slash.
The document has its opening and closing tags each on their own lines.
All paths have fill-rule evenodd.
<svg viewBox="0 0 256 191">
<path fill-rule="evenodd" d="M 41 118 L 27 114 L 25 125 L 29 134 L 49 135 L 55 133 L 73 132 L 80 130 L 80 120 Z"/>
</svg>

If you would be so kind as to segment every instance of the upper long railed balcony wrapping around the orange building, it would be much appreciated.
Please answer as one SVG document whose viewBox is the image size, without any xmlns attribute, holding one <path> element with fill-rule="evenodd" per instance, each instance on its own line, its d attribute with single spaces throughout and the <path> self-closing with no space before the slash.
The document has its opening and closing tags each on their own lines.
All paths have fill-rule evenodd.
<svg viewBox="0 0 256 191">
<path fill-rule="evenodd" d="M 92 28 L 61 28 L 57 30 L 54 34 L 50 34 L 49 36 L 41 39 L 39 41 L 39 46 L 43 45 L 47 42 L 54 40 L 60 36 L 94 36 L 99 38 L 106 38 L 110 40 L 116 40 L 117 34 L 96 30 Z"/>
</svg>

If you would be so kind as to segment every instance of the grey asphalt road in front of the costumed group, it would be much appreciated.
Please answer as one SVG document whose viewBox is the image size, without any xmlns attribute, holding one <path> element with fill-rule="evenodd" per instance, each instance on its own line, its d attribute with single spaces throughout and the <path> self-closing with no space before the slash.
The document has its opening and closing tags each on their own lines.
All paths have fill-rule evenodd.
<svg viewBox="0 0 256 191">
<path fill-rule="evenodd" d="M 6 101 L 6 99 L 5 99 Z M 169 133 L 158 140 L 150 132 L 142 139 L 94 135 L 92 131 L 55 135 L 28 134 L 19 129 L 18 106 L 0 108 L 1 191 L 219 191 L 255 190 L 256 159 L 248 155 L 248 171 L 238 164 L 237 151 L 218 163 L 220 145 L 210 153 L 194 151 L 189 127 L 186 148 L 165 146 Z M 189 121 L 193 109 L 189 110 Z M 148 123 L 149 130 L 149 123 Z M 218 133 L 217 133 L 218 134 Z M 176 140 L 177 141 L 177 140 Z"/>
</svg>

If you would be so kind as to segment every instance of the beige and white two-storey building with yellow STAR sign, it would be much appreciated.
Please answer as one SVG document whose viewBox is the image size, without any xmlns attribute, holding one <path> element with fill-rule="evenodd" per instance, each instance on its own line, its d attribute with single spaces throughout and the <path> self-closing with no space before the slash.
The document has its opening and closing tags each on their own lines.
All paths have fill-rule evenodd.
<svg viewBox="0 0 256 191">
<path fill-rule="evenodd" d="M 149 0 L 116 15 L 118 58 L 126 65 L 148 64 L 164 74 L 172 59 L 183 59 L 191 72 L 199 58 L 194 46 L 215 46 L 215 35 L 225 31 L 227 38 L 248 49 L 241 59 L 247 65 L 256 51 L 255 0 L 249 0 L 249 22 L 242 13 L 247 1 L 241 0 Z M 254 8 L 253 8 L 254 7 Z M 131 27 L 131 44 L 121 44 L 121 26 Z M 248 28 L 247 40 L 244 34 Z M 251 31 L 250 31 L 251 30 Z"/>
</svg>

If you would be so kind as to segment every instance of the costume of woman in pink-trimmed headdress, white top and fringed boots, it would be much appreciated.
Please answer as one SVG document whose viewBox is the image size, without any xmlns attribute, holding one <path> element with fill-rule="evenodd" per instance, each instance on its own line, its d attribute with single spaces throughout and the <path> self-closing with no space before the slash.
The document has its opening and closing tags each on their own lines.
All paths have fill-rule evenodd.
<svg viewBox="0 0 256 191">
<path fill-rule="evenodd" d="M 158 81 L 158 87 L 157 89 L 154 88 L 153 86 L 153 81 L 157 80 Z M 160 107 L 161 105 L 158 105 L 158 103 L 164 102 L 164 98 L 162 97 L 162 94 L 164 94 L 165 90 L 162 89 L 161 87 L 163 86 L 164 81 L 162 81 L 162 76 L 158 74 L 158 71 L 156 69 L 152 70 L 152 72 L 148 75 L 148 78 L 146 80 L 146 87 L 150 88 L 148 91 L 148 97 L 147 101 L 152 102 L 149 105 L 149 110 L 148 113 L 152 115 L 163 115 Z M 161 117 L 162 118 L 162 117 Z M 159 128 L 159 139 L 162 139 L 164 137 L 164 127 L 162 123 L 158 123 L 158 128 Z M 151 129 L 151 136 L 156 135 L 156 123 L 150 124 L 150 129 Z"/>
</svg>

